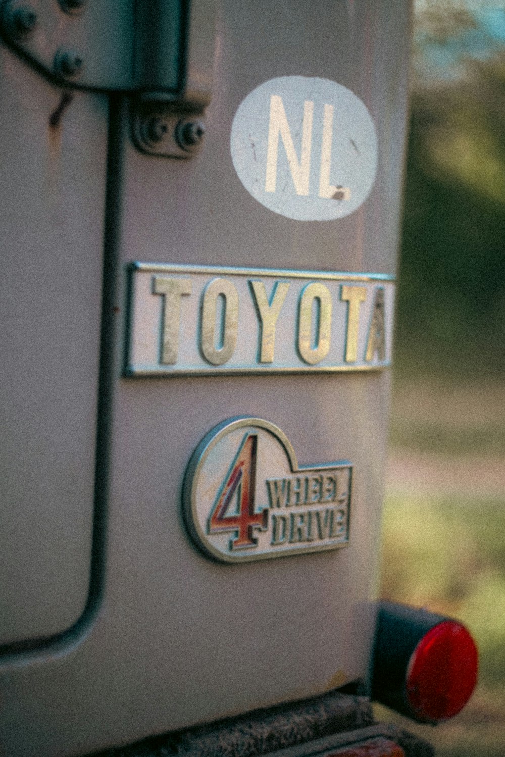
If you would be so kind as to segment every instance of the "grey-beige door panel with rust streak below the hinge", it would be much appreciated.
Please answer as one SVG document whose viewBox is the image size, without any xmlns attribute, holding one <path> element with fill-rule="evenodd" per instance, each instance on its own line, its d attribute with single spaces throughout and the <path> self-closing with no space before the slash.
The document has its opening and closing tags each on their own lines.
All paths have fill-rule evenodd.
<svg viewBox="0 0 505 757">
<path fill-rule="evenodd" d="M 108 110 L 62 95 L 0 49 L 0 645 L 89 590 Z"/>
</svg>

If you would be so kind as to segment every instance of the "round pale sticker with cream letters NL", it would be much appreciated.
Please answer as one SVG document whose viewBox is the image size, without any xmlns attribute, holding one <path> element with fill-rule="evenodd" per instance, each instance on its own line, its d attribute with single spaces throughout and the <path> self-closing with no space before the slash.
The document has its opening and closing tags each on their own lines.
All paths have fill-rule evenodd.
<svg viewBox="0 0 505 757">
<path fill-rule="evenodd" d="M 348 216 L 376 178 L 377 136 L 366 105 L 329 79 L 260 84 L 238 106 L 230 148 L 248 192 L 299 221 Z"/>
</svg>

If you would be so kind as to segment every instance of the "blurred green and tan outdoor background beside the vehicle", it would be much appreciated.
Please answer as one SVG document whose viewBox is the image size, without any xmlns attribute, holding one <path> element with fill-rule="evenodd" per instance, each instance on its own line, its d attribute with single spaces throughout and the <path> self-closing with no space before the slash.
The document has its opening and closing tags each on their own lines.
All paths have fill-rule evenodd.
<svg viewBox="0 0 505 757">
<path fill-rule="evenodd" d="M 417 0 L 382 583 L 463 621 L 479 687 L 438 755 L 505 755 L 505 8 Z"/>
</svg>

